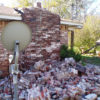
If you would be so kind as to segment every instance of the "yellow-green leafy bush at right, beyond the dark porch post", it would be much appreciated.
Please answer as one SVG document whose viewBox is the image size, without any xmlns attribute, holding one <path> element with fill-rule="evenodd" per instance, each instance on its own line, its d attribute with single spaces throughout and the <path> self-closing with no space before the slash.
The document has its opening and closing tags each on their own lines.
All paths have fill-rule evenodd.
<svg viewBox="0 0 100 100">
<path fill-rule="evenodd" d="M 87 16 L 83 29 L 75 31 L 75 46 L 87 50 L 100 38 L 100 18 Z"/>
</svg>

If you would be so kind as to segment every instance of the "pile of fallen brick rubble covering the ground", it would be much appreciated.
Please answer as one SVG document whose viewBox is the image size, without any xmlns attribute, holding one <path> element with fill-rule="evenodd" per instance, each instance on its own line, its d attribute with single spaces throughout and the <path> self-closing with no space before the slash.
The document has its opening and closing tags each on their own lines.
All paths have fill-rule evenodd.
<svg viewBox="0 0 100 100">
<path fill-rule="evenodd" d="M 100 100 L 100 69 L 64 61 L 38 61 L 18 75 L 19 100 Z M 12 77 L 0 80 L 0 100 L 11 100 Z"/>
</svg>

